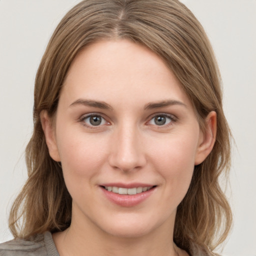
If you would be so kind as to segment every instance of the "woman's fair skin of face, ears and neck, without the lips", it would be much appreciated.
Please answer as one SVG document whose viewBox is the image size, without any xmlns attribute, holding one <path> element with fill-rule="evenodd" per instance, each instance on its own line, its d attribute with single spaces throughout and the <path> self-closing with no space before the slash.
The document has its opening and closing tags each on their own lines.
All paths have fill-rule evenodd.
<svg viewBox="0 0 256 256">
<path fill-rule="evenodd" d="M 91 101 L 108 108 L 87 105 Z M 100 124 L 93 126 L 89 114 L 101 116 Z M 170 242 L 176 208 L 194 165 L 213 147 L 216 113 L 208 114 L 202 134 L 165 63 L 144 46 L 118 39 L 93 43 L 75 57 L 54 118 L 52 126 L 41 113 L 49 153 L 61 161 L 72 197 L 70 227 L 53 234 L 59 254 L 187 255 Z M 141 203 L 124 207 L 102 192 L 100 184 L 109 182 L 156 187 Z"/>
</svg>

